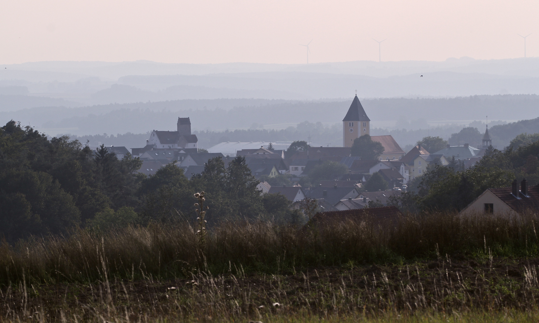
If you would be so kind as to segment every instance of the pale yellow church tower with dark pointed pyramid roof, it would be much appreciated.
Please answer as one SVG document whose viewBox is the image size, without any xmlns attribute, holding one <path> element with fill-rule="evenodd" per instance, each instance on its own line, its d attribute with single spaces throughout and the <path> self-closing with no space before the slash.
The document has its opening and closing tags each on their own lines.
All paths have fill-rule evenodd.
<svg viewBox="0 0 539 323">
<path fill-rule="evenodd" d="M 370 135 L 370 119 L 361 106 L 360 99 L 357 99 L 357 95 L 354 97 L 354 101 L 350 104 L 348 113 L 342 120 L 342 145 L 343 147 L 351 147 L 354 143 L 354 139 L 363 136 Z"/>
</svg>

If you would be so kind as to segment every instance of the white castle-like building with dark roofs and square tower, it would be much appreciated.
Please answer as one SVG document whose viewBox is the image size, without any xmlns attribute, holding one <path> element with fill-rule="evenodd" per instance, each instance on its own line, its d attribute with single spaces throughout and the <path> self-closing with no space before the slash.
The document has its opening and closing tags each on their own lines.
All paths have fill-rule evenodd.
<svg viewBox="0 0 539 323">
<path fill-rule="evenodd" d="M 191 121 L 189 118 L 179 118 L 176 131 L 151 131 L 147 145 L 155 148 L 190 148 L 197 149 L 197 136 L 191 134 Z"/>
</svg>

